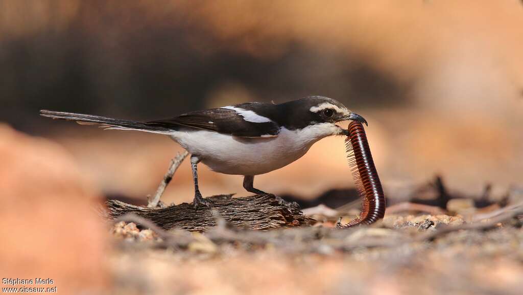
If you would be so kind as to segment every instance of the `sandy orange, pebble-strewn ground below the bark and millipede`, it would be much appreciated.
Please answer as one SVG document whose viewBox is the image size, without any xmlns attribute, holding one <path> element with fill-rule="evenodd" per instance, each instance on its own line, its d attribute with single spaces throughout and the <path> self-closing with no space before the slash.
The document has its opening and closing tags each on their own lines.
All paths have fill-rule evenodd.
<svg viewBox="0 0 523 295">
<path fill-rule="evenodd" d="M 427 221 L 433 221 L 430 225 Z M 520 294 L 519 222 L 407 242 L 460 217 L 392 215 L 378 225 L 267 232 L 272 243 L 210 241 L 195 233 L 184 248 L 157 248 L 134 226 L 116 235 L 110 257 L 116 294 Z M 425 224 L 425 225 L 424 225 Z M 313 230 L 321 232 L 320 227 Z M 331 231 L 328 228 L 323 230 Z M 134 232 L 134 233 L 132 233 Z M 142 231 L 143 232 L 143 231 Z M 275 234 L 275 232 L 279 232 Z M 286 235 L 291 239 L 284 238 Z M 153 235 L 154 236 L 154 235 Z"/>
</svg>

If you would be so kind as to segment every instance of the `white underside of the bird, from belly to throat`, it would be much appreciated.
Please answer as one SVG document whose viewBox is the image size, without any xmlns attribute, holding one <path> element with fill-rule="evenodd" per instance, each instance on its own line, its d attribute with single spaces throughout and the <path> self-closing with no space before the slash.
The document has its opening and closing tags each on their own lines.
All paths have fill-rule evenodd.
<svg viewBox="0 0 523 295">
<path fill-rule="evenodd" d="M 258 175 L 287 166 L 301 158 L 319 139 L 339 133 L 339 127 L 322 124 L 299 130 L 282 128 L 277 137 L 233 137 L 201 129 L 170 135 L 213 171 L 235 175 Z"/>
</svg>

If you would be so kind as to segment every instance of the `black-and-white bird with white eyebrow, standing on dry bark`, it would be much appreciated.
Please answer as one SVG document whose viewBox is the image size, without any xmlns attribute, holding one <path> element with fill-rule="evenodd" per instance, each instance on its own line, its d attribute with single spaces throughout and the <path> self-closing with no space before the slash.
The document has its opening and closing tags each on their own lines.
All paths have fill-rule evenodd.
<svg viewBox="0 0 523 295">
<path fill-rule="evenodd" d="M 280 104 L 246 102 L 146 122 L 48 110 L 41 110 L 40 115 L 99 124 L 105 129 L 169 136 L 190 154 L 196 208 L 211 206 L 198 187 L 200 162 L 215 172 L 244 176 L 246 191 L 265 194 L 254 188 L 255 176 L 298 160 L 322 138 L 348 135 L 348 130 L 336 125 L 338 122 L 367 124 L 365 118 L 325 96 L 306 96 Z"/>
</svg>

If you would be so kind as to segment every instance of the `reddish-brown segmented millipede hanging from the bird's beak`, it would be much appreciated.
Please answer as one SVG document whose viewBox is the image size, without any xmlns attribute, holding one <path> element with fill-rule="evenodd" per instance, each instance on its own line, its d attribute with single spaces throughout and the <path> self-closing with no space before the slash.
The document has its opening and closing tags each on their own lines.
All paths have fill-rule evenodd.
<svg viewBox="0 0 523 295">
<path fill-rule="evenodd" d="M 385 195 L 370 154 L 365 129 L 360 122 L 353 121 L 348 130 L 349 135 L 345 139 L 347 157 L 362 205 L 358 217 L 344 225 L 338 222 L 338 228 L 371 224 L 383 218 L 385 214 Z"/>
</svg>

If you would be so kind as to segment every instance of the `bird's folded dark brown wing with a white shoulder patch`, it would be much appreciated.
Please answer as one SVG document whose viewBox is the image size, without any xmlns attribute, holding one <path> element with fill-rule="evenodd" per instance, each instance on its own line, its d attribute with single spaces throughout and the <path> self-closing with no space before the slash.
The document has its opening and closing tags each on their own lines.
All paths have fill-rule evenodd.
<svg viewBox="0 0 523 295">
<path fill-rule="evenodd" d="M 164 128 L 188 126 L 240 137 L 275 137 L 280 130 L 269 118 L 235 106 L 190 112 L 145 124 Z"/>
</svg>

